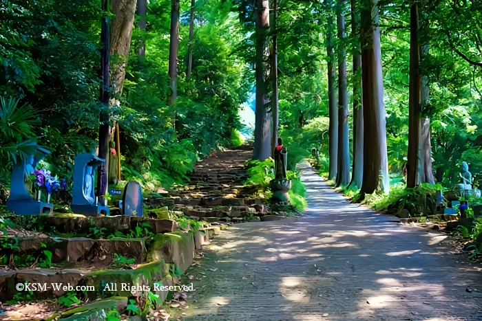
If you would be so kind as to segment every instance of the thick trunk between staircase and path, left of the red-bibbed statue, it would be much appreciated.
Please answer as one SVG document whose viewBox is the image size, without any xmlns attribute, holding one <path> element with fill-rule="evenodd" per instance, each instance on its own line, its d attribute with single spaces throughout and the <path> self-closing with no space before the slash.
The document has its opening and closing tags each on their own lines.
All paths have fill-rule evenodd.
<svg viewBox="0 0 482 321">
<path fill-rule="evenodd" d="M 269 0 L 257 0 L 256 14 L 256 102 L 253 159 L 264 161 L 271 156 L 271 119 L 266 113 L 266 33 L 269 28 Z"/>
</svg>

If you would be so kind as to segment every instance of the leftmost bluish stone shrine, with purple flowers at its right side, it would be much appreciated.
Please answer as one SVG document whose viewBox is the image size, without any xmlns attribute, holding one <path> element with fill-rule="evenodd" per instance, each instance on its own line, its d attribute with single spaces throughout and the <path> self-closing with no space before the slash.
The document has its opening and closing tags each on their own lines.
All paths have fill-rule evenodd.
<svg viewBox="0 0 482 321">
<path fill-rule="evenodd" d="M 28 146 L 30 155 L 19 162 L 17 166 L 14 166 L 12 170 L 10 196 L 6 202 L 7 209 L 19 215 L 52 214 L 54 206 L 51 203 L 37 201 L 33 190 L 34 181 L 30 179 L 36 165 L 50 152 L 41 148 L 35 142 Z"/>
</svg>

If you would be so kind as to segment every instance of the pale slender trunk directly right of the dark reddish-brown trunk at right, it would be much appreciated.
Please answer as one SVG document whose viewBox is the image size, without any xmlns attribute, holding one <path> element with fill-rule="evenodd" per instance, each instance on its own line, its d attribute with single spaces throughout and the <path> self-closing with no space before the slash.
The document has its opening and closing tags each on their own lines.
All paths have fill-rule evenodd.
<svg viewBox="0 0 482 321">
<path fill-rule="evenodd" d="M 420 88 L 420 104 L 421 111 L 426 109 L 429 95 L 428 77 L 425 69 L 422 67 L 423 61 L 428 54 L 428 36 L 426 30 L 428 30 L 428 16 L 426 12 L 427 1 L 421 2 L 421 8 L 419 8 L 419 30 L 420 34 L 420 74 L 421 74 L 421 88 Z M 435 184 L 434 173 L 432 168 L 432 146 L 430 144 L 430 118 L 426 115 L 421 119 L 421 137 L 419 138 L 419 177 L 418 183 Z"/>
</svg>

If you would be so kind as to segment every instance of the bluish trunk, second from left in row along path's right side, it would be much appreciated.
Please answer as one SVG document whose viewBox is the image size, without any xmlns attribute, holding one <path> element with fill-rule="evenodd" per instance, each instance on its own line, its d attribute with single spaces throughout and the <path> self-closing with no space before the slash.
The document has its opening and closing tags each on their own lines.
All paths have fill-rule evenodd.
<svg viewBox="0 0 482 321">
<path fill-rule="evenodd" d="M 337 186 L 350 183 L 350 148 L 348 138 L 348 89 L 346 87 L 346 49 L 344 1 L 337 3 L 338 27 L 338 170 Z"/>
</svg>

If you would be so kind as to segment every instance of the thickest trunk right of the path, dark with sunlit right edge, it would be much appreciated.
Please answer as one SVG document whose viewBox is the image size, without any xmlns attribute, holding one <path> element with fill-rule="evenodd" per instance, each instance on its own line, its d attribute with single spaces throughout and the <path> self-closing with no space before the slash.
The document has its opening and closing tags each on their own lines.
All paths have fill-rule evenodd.
<svg viewBox="0 0 482 321">
<path fill-rule="evenodd" d="M 364 173 L 362 198 L 381 188 L 390 190 L 386 149 L 386 111 L 381 72 L 378 0 L 364 0 L 362 8 L 362 82 Z"/>
</svg>

